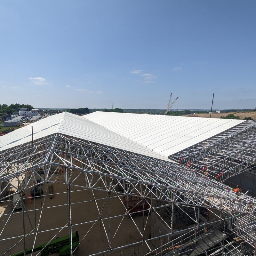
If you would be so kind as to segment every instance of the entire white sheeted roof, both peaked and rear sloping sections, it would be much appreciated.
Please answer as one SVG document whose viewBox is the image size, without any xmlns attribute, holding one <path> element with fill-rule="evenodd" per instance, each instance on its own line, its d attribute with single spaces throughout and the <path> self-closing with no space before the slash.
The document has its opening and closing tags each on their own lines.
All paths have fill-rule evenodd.
<svg viewBox="0 0 256 256">
<path fill-rule="evenodd" d="M 63 112 L 0 137 L 0 151 L 55 133 L 129 152 L 168 160 L 168 156 L 208 139 L 244 120 L 94 112 Z"/>
</svg>

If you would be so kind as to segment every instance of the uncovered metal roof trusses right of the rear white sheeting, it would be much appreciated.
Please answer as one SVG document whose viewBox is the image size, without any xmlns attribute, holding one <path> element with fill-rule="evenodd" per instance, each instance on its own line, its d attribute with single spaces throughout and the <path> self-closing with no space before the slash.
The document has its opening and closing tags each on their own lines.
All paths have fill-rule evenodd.
<svg viewBox="0 0 256 256">
<path fill-rule="evenodd" d="M 169 158 L 220 181 L 256 170 L 256 122 L 236 125 Z"/>
</svg>

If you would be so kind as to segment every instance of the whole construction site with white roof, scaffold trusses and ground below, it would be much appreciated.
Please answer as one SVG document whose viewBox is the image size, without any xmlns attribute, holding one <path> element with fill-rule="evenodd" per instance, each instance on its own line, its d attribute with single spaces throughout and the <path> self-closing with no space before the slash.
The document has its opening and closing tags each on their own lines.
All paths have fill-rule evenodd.
<svg viewBox="0 0 256 256">
<path fill-rule="evenodd" d="M 0 156 L 2 256 L 256 255 L 255 121 L 63 112 Z"/>
</svg>

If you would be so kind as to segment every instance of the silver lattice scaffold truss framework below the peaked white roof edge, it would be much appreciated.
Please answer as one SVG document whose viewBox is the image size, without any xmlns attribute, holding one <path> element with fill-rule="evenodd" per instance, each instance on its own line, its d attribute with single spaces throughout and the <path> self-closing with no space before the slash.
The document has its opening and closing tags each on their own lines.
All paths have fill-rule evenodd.
<svg viewBox="0 0 256 256">
<path fill-rule="evenodd" d="M 67 186 L 67 205 L 69 209 L 67 226 L 70 234 L 72 233 L 72 214 L 70 210 L 70 197 L 72 195 L 70 195 L 70 188 L 77 188 L 90 190 L 93 195 L 105 193 L 104 195 L 107 195 L 105 201 L 108 199 L 109 204 L 113 195 L 120 199 L 121 204 L 123 204 L 121 199 L 123 196 L 139 196 L 140 201 L 137 204 L 142 205 L 142 210 L 139 211 L 143 215 L 143 223 L 142 227 L 139 227 L 133 221 L 141 236 L 141 241 L 137 243 L 146 244 L 151 252 L 157 251 L 157 248 L 150 246 L 150 241 L 153 241 L 154 238 L 147 238 L 144 234 L 148 222 L 148 217 L 144 220 L 145 209 L 156 210 L 152 206 L 153 204 L 149 203 L 150 200 L 162 201 L 164 202 L 163 206 L 175 204 L 181 209 L 184 206 L 196 207 L 198 214 L 200 207 L 218 209 L 230 216 L 229 219 L 232 220 L 230 225 L 234 232 L 238 233 L 248 244 L 255 244 L 256 236 L 252 232 L 253 226 L 247 224 L 256 219 L 256 200 L 246 195 L 237 197 L 236 194 L 231 192 L 230 188 L 197 172 L 195 169 L 187 169 L 179 164 L 59 133 L 2 151 L 0 157 L 1 200 L 9 198 L 9 195 L 6 195 L 6 189 L 9 188 L 23 195 L 23 192 L 28 188 L 40 184 L 47 184 L 46 189 L 51 183 L 60 183 Z M 81 179 L 83 184 L 81 184 Z M 99 199 L 96 196 L 94 198 L 97 207 L 99 207 L 98 202 L 101 200 L 98 201 Z M 145 204 L 150 205 L 146 207 Z M 124 216 L 131 215 L 135 208 L 128 209 L 124 204 L 123 207 L 125 212 L 122 218 L 121 215 L 116 216 L 122 220 Z M 42 206 L 41 210 L 43 208 Z M 106 225 L 108 219 L 109 232 Z M 103 218 L 100 208 L 98 209 L 95 223 L 100 221 L 104 226 L 108 249 L 103 252 L 95 252 L 93 255 L 128 246 L 116 246 L 115 248 L 112 246 L 118 228 L 113 236 L 113 231 L 110 230 L 111 219 L 110 213 L 108 218 L 106 216 Z M 86 223 L 89 224 L 89 222 Z M 93 222 L 92 226 L 95 223 Z M 199 217 L 196 218 L 196 223 L 199 223 Z M 208 224 L 205 224 L 205 228 Z M 29 232 L 24 230 L 23 240 L 25 241 L 25 238 L 31 236 L 31 234 L 36 236 L 40 233 L 39 226 L 38 221 Z M 193 234 L 196 234 L 197 228 L 197 226 L 191 228 Z M 172 233 L 171 227 L 170 233 Z M 248 234 L 251 235 L 248 237 Z"/>
</svg>

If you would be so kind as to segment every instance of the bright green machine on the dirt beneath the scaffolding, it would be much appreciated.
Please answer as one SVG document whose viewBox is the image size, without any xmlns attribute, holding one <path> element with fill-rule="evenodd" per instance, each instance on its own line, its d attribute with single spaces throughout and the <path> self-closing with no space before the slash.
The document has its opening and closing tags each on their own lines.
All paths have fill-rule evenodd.
<svg viewBox="0 0 256 256">
<path fill-rule="evenodd" d="M 57 238 L 55 240 L 52 240 L 49 244 L 40 244 L 34 247 L 33 252 L 40 251 L 44 247 L 44 249 L 41 252 L 41 256 L 51 255 L 52 253 L 59 252 L 61 256 L 69 255 L 69 236 L 62 236 L 60 238 Z M 78 246 L 79 244 L 79 236 L 78 231 L 72 234 L 72 248 L 73 250 Z M 32 252 L 32 248 L 26 250 L 26 255 Z M 12 256 L 24 256 L 23 252 L 18 252 L 16 254 L 13 254 Z"/>
</svg>

